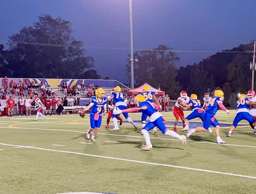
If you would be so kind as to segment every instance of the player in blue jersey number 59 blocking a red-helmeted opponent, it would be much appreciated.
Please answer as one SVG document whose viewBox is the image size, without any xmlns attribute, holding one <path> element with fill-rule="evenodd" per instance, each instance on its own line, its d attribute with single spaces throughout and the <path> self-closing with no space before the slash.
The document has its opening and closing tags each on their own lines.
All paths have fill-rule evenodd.
<svg viewBox="0 0 256 194">
<path fill-rule="evenodd" d="M 183 128 L 181 131 L 187 131 L 189 129 L 188 127 L 188 121 L 195 119 L 195 118 L 200 118 L 204 122 L 204 109 L 201 106 L 200 100 L 197 99 L 196 94 L 191 94 L 190 100 L 188 101 L 188 104 L 185 104 L 183 102 L 180 103 L 183 106 L 183 109 L 189 110 L 190 108 L 192 109 L 193 112 L 191 112 L 186 118 L 185 118 L 185 128 Z M 209 132 L 212 133 L 212 130 L 209 129 Z"/>
</svg>

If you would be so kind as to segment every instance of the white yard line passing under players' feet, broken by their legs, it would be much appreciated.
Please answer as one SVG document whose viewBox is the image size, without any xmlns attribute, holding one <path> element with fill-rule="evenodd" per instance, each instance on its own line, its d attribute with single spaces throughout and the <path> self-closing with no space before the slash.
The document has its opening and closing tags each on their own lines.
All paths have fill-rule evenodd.
<svg viewBox="0 0 256 194">
<path fill-rule="evenodd" d="M 85 133 L 84 131 L 74 131 L 74 130 L 63 130 L 63 129 L 44 129 L 44 128 L 26 128 L 26 127 L 0 127 L 0 128 L 10 128 L 10 129 L 37 129 L 37 130 L 46 130 L 46 131 L 65 131 L 65 132 L 75 132 L 75 133 Z M 110 133 L 98 133 L 100 135 L 112 135 L 112 136 L 122 136 L 122 137 L 135 137 L 135 138 L 144 138 L 143 136 L 134 136 L 134 135 L 118 135 L 118 134 L 110 134 Z M 158 140 L 172 140 L 172 141 L 180 141 L 178 139 L 167 139 L 167 138 L 155 138 L 152 137 L 150 139 L 158 139 Z M 189 141 L 188 142 L 194 142 L 194 143 L 207 143 L 207 144 L 214 144 L 219 146 L 238 146 L 238 147 L 253 147 L 256 148 L 256 146 L 246 146 L 246 145 L 236 145 L 236 144 L 217 144 L 214 142 L 204 142 L 204 141 Z"/>
</svg>

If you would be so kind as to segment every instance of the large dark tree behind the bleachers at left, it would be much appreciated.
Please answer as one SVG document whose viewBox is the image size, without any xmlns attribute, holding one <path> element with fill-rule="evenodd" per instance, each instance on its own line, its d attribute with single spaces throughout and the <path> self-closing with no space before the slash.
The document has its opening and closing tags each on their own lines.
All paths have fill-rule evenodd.
<svg viewBox="0 0 256 194">
<path fill-rule="evenodd" d="M 9 55 L 1 76 L 88 78 L 83 76 L 94 67 L 94 60 L 85 56 L 84 43 L 73 37 L 71 25 L 62 18 L 43 15 L 33 26 L 9 37 Z"/>
</svg>

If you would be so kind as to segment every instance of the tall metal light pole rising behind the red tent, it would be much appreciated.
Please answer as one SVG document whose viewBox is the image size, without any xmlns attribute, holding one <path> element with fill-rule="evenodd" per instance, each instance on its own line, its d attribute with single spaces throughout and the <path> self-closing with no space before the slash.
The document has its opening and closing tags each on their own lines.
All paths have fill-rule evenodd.
<svg viewBox="0 0 256 194">
<path fill-rule="evenodd" d="M 133 33 L 132 33 L 132 0 L 130 0 L 130 33 L 131 33 L 131 88 L 134 89 L 134 70 L 133 70 Z"/>
</svg>

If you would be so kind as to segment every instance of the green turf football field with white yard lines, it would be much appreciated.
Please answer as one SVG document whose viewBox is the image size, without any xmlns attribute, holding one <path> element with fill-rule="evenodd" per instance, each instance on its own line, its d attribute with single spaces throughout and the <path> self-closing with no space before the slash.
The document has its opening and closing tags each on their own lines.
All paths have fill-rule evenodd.
<svg viewBox="0 0 256 194">
<path fill-rule="evenodd" d="M 187 147 L 158 130 L 150 132 L 148 151 L 140 151 L 140 113 L 130 114 L 138 130 L 124 123 L 111 131 L 113 123 L 105 129 L 103 119 L 96 141 L 86 139 L 89 114 L 0 118 L 0 193 L 255 193 L 256 135 L 242 121 L 225 137 L 235 114 L 216 115 L 225 145 L 215 143 L 213 127 L 213 133 L 192 134 Z M 163 116 L 172 129 L 172 112 Z M 202 125 L 196 122 L 190 124 Z"/>
</svg>

